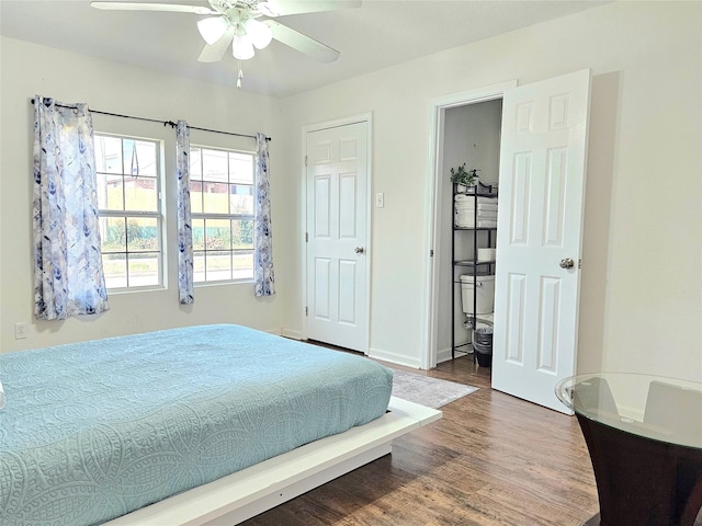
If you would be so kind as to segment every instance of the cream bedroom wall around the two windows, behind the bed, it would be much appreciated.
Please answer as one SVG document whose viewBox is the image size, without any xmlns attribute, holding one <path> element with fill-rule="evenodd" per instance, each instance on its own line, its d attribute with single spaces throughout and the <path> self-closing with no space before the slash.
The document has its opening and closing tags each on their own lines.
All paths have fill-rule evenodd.
<svg viewBox="0 0 702 526">
<path fill-rule="evenodd" d="M 229 322 L 280 332 L 286 278 L 284 265 L 276 268 L 278 297 L 256 299 L 253 285 L 204 286 L 195 289 L 195 304 L 180 306 L 176 259 L 169 260 L 169 289 L 110 295 L 110 311 L 66 321 L 37 322 L 33 312 L 32 266 L 32 123 L 30 99 L 35 94 L 63 102 L 88 102 L 95 110 L 155 119 L 184 118 L 192 126 L 271 136 L 272 216 L 296 217 L 294 203 L 283 198 L 291 180 L 283 172 L 279 145 L 283 146 L 280 107 L 275 100 L 233 88 L 196 82 L 125 65 L 76 55 L 3 37 L 1 41 L 2 128 L 0 147 L 0 350 L 38 347 L 95 338 L 138 333 L 177 325 Z M 233 72 L 233 75 L 235 75 Z M 174 179 L 174 133 L 161 124 L 95 115 L 101 132 L 169 139 L 166 176 Z M 234 139 L 194 132 L 191 141 L 253 149 L 252 139 Z M 171 185 L 172 190 L 172 185 Z M 166 207 L 176 209 L 176 196 L 167 193 Z M 291 211 L 293 209 L 293 211 Z M 174 226 L 171 214 L 171 227 Z M 285 239 L 285 220 L 273 225 L 273 239 Z M 168 239 L 171 247 L 176 239 Z M 282 244 L 282 243 L 281 243 Z M 275 254 L 279 252 L 274 244 Z M 171 254 L 173 255 L 173 254 Z M 14 323 L 29 323 L 29 338 L 14 339 Z"/>
</svg>

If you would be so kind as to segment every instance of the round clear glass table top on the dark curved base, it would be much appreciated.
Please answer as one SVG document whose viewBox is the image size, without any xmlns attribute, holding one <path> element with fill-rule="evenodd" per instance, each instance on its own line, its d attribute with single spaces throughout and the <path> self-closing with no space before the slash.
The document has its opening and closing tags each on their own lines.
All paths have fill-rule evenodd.
<svg viewBox="0 0 702 526">
<path fill-rule="evenodd" d="M 702 448 L 702 382 L 597 373 L 565 378 L 555 390 L 580 416 L 645 438 Z"/>
</svg>

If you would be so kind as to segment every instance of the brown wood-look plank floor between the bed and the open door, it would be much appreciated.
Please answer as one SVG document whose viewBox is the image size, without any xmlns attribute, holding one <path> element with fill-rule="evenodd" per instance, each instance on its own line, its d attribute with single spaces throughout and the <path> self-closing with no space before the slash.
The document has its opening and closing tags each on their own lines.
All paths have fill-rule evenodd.
<svg viewBox="0 0 702 526">
<path fill-rule="evenodd" d="M 580 526 L 598 512 L 575 418 L 491 390 L 471 357 L 416 373 L 480 389 L 392 455 L 244 524 Z"/>
</svg>

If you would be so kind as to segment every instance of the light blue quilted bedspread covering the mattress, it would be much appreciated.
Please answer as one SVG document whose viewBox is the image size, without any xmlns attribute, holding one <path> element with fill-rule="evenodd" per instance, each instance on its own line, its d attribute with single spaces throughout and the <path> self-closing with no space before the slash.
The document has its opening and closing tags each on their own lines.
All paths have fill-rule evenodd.
<svg viewBox="0 0 702 526">
<path fill-rule="evenodd" d="M 381 416 L 392 371 L 238 325 L 0 355 L 0 524 L 117 517 Z"/>
</svg>

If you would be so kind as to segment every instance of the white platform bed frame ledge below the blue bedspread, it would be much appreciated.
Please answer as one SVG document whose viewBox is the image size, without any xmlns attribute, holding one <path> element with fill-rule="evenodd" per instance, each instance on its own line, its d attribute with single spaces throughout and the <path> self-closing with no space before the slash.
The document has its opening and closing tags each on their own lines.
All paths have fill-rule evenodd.
<svg viewBox="0 0 702 526">
<path fill-rule="evenodd" d="M 388 412 L 207 484 L 143 507 L 109 526 L 230 526 L 278 506 L 392 451 L 392 441 L 442 412 L 390 398 Z"/>
</svg>

